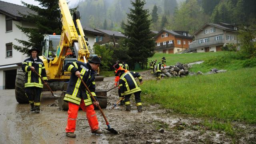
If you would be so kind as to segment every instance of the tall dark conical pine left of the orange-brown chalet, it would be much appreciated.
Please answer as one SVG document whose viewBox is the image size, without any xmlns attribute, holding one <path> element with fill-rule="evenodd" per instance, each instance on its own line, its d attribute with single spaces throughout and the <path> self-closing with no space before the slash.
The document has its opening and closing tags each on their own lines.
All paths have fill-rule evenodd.
<svg viewBox="0 0 256 144">
<path fill-rule="evenodd" d="M 130 13 L 127 14 L 128 24 L 124 29 L 124 35 L 128 37 L 128 55 L 132 58 L 129 64 L 141 63 L 142 68 L 147 64 L 148 58 L 154 55 L 154 40 L 149 29 L 152 21 L 148 19 L 148 10 L 143 9 L 145 3 L 145 0 L 131 1 L 134 9 L 130 8 Z"/>
</svg>

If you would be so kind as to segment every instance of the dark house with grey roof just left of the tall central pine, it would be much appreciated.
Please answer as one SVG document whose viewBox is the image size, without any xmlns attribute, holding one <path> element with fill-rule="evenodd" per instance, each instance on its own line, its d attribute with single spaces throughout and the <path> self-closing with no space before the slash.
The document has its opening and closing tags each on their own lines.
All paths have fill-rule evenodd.
<svg viewBox="0 0 256 144">
<path fill-rule="evenodd" d="M 97 36 L 95 39 L 95 44 L 107 44 L 107 43 L 116 43 L 120 38 L 126 38 L 124 34 L 121 32 L 117 31 L 112 31 L 112 30 L 102 30 L 95 28 L 94 30 L 97 30 L 99 32 L 102 32 L 104 36 Z"/>
</svg>

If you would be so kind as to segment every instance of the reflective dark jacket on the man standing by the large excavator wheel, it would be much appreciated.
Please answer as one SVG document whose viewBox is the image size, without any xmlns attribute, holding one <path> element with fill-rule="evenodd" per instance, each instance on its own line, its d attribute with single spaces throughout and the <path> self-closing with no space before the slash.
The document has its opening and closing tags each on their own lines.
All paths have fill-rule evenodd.
<svg viewBox="0 0 256 144">
<path fill-rule="evenodd" d="M 37 60 L 34 60 L 34 58 L 30 56 L 30 58 L 27 58 L 26 60 L 24 60 L 21 66 L 23 72 L 26 72 L 25 88 L 33 87 L 33 86 L 38 88 L 43 88 L 44 84 L 41 78 L 39 78 L 35 72 L 32 72 L 32 70 L 30 69 L 31 66 L 35 68 L 35 71 L 43 78 L 43 80 L 47 80 L 43 61 L 38 56 L 37 56 Z"/>
</svg>

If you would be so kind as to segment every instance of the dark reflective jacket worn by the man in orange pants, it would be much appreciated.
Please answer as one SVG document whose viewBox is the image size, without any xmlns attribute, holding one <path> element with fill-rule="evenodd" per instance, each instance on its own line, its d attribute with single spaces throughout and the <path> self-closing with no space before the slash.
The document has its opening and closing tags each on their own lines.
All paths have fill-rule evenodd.
<svg viewBox="0 0 256 144">
<path fill-rule="evenodd" d="M 80 72 L 80 77 L 89 88 L 93 96 L 95 94 L 95 75 L 96 72 L 92 70 L 89 62 L 86 64 L 83 62 L 69 62 L 64 66 L 64 70 L 71 72 L 70 80 L 68 83 L 68 89 L 64 97 L 65 102 L 72 102 L 74 104 L 80 105 L 81 99 L 84 99 L 84 104 L 86 106 L 93 103 L 89 92 L 86 90 L 84 84 L 76 76 L 76 71 Z"/>
</svg>

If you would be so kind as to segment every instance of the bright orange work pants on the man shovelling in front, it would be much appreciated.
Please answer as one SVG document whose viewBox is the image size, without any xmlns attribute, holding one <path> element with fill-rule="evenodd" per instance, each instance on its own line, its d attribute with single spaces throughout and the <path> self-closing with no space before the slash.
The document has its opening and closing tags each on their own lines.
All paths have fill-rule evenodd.
<svg viewBox="0 0 256 144">
<path fill-rule="evenodd" d="M 86 112 L 86 117 L 90 125 L 91 131 L 93 132 L 95 130 L 98 130 L 99 123 L 93 104 L 85 106 L 84 100 L 82 99 L 80 102 L 80 106 L 77 104 L 73 104 L 72 102 L 68 102 L 68 123 L 66 126 L 66 132 L 74 132 L 76 130 L 76 118 L 79 107 L 81 107 L 82 110 Z"/>
</svg>

